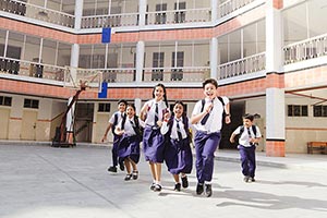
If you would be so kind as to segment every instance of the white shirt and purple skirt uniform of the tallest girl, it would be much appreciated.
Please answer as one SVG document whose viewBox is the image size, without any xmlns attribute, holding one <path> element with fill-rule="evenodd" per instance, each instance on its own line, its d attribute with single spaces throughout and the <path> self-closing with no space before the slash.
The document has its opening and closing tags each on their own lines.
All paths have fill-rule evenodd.
<svg viewBox="0 0 327 218">
<path fill-rule="evenodd" d="M 162 121 L 164 113 L 168 110 L 168 108 L 162 100 L 156 102 L 155 99 L 152 99 L 146 101 L 146 105 L 148 106 L 148 109 L 143 134 L 143 150 L 145 160 L 152 162 L 164 162 L 165 137 L 160 133 L 160 128 L 157 126 L 155 121 L 156 114 L 157 119 Z"/>
</svg>

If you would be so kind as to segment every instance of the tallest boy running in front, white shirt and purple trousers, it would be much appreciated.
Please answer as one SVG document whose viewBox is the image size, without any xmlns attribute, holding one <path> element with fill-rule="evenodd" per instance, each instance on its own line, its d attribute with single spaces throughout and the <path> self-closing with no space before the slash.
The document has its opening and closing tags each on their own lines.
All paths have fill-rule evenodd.
<svg viewBox="0 0 327 218">
<path fill-rule="evenodd" d="M 218 83 L 208 78 L 203 83 L 205 99 L 195 104 L 191 122 L 196 129 L 195 144 L 195 167 L 196 167 L 196 194 L 204 193 L 207 197 L 213 195 L 211 180 L 214 173 L 215 152 L 220 143 L 222 113 L 225 122 L 230 123 L 229 99 L 218 96 Z"/>
</svg>

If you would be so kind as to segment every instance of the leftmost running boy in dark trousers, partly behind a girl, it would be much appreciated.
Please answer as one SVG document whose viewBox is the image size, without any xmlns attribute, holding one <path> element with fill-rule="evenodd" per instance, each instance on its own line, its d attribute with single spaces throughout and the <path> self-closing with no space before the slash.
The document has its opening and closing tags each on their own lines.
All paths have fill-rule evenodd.
<svg viewBox="0 0 327 218">
<path fill-rule="evenodd" d="M 118 101 L 118 111 L 116 111 L 111 118 L 109 119 L 109 124 L 106 129 L 105 135 L 101 138 L 101 142 L 104 143 L 107 140 L 108 133 L 110 131 L 110 129 L 112 130 L 112 134 L 113 134 L 113 145 L 112 145 L 112 149 L 111 149 L 111 154 L 112 154 L 112 166 L 110 166 L 108 168 L 108 171 L 110 172 L 117 172 L 117 166 L 119 164 L 120 169 L 123 171 L 124 170 L 124 165 L 121 160 L 119 160 L 118 158 L 118 142 L 119 142 L 119 136 L 117 134 L 114 134 L 114 129 L 116 125 L 126 116 L 125 114 L 125 109 L 128 106 L 128 101 L 125 100 L 119 100 Z"/>
</svg>

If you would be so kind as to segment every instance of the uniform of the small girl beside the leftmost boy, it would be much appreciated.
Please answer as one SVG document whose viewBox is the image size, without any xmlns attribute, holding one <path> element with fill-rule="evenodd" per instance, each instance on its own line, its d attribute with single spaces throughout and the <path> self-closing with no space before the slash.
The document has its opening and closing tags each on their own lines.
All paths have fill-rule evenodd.
<svg viewBox="0 0 327 218">
<path fill-rule="evenodd" d="M 123 121 L 121 121 L 118 124 L 119 128 L 122 128 L 122 122 Z M 138 123 L 140 125 L 144 125 L 141 119 L 138 119 Z M 124 160 L 125 158 L 131 158 L 135 164 L 140 161 L 140 142 L 141 142 L 140 136 L 136 134 L 134 130 L 136 128 L 137 126 L 134 118 L 132 119 L 126 118 L 123 126 L 124 134 L 120 137 L 118 143 L 119 158 L 121 158 L 122 160 Z"/>
</svg>

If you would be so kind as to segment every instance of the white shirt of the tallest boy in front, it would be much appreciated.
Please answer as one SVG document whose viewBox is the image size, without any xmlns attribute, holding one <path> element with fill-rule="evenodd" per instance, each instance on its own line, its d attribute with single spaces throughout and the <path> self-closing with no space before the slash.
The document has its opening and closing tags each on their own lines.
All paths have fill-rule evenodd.
<svg viewBox="0 0 327 218">
<path fill-rule="evenodd" d="M 225 105 L 229 104 L 229 99 L 226 96 L 221 96 L 222 101 L 225 102 Z M 209 102 L 209 99 L 205 99 L 205 104 Z M 205 110 L 205 105 L 203 110 Z M 202 109 L 202 100 L 197 101 L 194 106 L 192 116 L 196 116 L 198 113 L 201 113 Z M 225 107 L 222 106 L 221 101 L 216 97 L 214 99 L 214 108 L 213 110 L 209 112 L 209 118 L 207 120 L 207 122 L 203 125 L 201 124 L 202 119 L 194 124 L 194 128 L 197 131 L 203 131 L 203 132 L 207 132 L 207 133 L 214 133 L 214 132 L 220 132 L 221 126 L 222 126 L 222 113 L 223 113 Z M 204 116 L 205 117 L 205 116 Z"/>
</svg>

